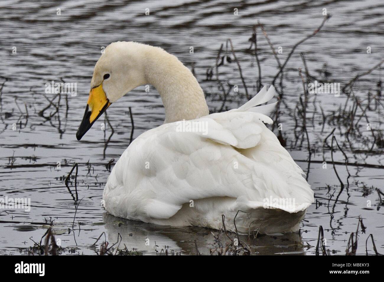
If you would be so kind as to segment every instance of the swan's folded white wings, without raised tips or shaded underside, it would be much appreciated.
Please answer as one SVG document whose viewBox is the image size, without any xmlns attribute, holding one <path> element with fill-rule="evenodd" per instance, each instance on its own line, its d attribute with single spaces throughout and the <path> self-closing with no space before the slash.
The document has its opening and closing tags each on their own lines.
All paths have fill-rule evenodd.
<svg viewBox="0 0 384 282">
<path fill-rule="evenodd" d="M 294 197 L 295 207 L 288 211 L 304 210 L 313 192 L 260 115 L 227 112 L 195 120 L 207 122 L 205 132 L 180 132 L 171 123 L 140 135 L 108 178 L 107 211 L 148 222 L 210 197 L 237 199 L 228 207 L 233 210 L 262 207 L 270 197 Z"/>
</svg>

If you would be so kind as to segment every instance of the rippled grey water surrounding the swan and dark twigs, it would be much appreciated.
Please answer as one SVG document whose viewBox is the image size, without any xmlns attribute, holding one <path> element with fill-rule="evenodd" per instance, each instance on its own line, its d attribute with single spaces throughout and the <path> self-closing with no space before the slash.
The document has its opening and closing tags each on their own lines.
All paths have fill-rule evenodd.
<svg viewBox="0 0 384 282">
<path fill-rule="evenodd" d="M 83 140 L 77 141 L 75 133 L 88 99 L 94 64 L 103 47 L 113 41 L 139 41 L 161 46 L 190 69 L 193 65 L 210 110 L 215 112 L 223 105 L 223 94 L 215 80 L 215 60 L 222 43 L 222 55 L 227 54 L 233 59 L 230 48 L 226 51 L 227 38 L 232 39 L 252 96 L 257 92 L 258 79 L 254 49 L 247 50 L 252 26 L 260 20 L 276 51 L 281 47 L 282 54 L 278 54 L 278 58 L 283 63 L 291 47 L 318 28 L 323 20 L 323 8 L 332 17 L 316 36 L 299 45 L 290 58 L 284 71 L 279 114 L 273 116 L 276 121 L 274 132 L 278 134 L 277 124 L 281 123 L 287 150 L 305 172 L 309 167 L 308 182 L 317 203 L 308 208 L 300 234 L 258 236 L 255 241 L 252 236 L 242 239 L 255 245 L 252 254 L 313 255 L 321 225 L 326 249 L 331 254 L 345 254 L 349 235 L 356 232 L 361 216 L 366 229 L 362 233 L 359 227 L 357 254 L 365 254 L 364 244 L 369 234 L 374 236 L 377 251 L 384 253 L 383 208 L 376 190 L 384 191 L 383 148 L 379 142 L 384 101 L 379 96 L 381 86 L 378 86 L 382 68 L 363 76 L 353 85 L 353 93 L 360 97 L 363 110 L 367 107 L 370 92 L 371 107 L 365 111 L 366 116 L 359 107 L 356 110 L 354 130 L 348 135 L 350 142 L 345 132 L 351 119 L 340 106 L 343 109 L 346 103 L 346 111 L 354 109 L 354 99 L 346 101 L 345 94 L 339 97 L 332 94 L 308 96 L 306 129 L 310 140 L 310 166 L 306 135 L 300 127 L 303 119 L 299 96 L 304 99 L 304 95 L 298 74 L 298 68 L 303 68 L 305 74 L 301 52 L 305 54 L 308 71 L 313 76 L 311 82 L 314 79 L 339 82 L 341 87 L 379 63 L 384 51 L 384 6 L 380 1 L 239 1 L 228 4 L 226 1 L 184 0 L 172 3 L 16 0 L 0 5 L 0 86 L 3 84 L 0 195 L 31 199 L 30 212 L 0 210 L 0 254 L 38 253 L 30 247 L 33 241 L 40 242 L 49 226 L 60 240 L 62 254 L 96 254 L 104 241 L 108 241 L 110 247 L 118 240 L 119 249 L 125 244 L 127 250 L 136 249 L 139 254 L 156 254 L 156 251 L 160 254 L 165 250 L 169 254 L 195 254 L 196 240 L 199 252 L 209 254 L 209 249 L 217 246 L 212 230 L 168 228 L 127 221 L 114 218 L 101 207 L 102 191 L 109 175 L 108 163 L 113 159 L 112 166 L 116 163 L 131 139 L 129 107 L 134 119 L 133 138 L 161 125 L 164 108 L 156 89 L 151 87 L 147 93 L 144 86 L 138 87 L 107 110 L 114 130 L 112 135 L 108 121 L 101 117 Z M 57 15 L 58 8 L 61 15 Z M 150 15 L 145 15 L 146 8 Z M 233 14 L 234 8 L 238 8 L 237 16 Z M 260 28 L 257 32 L 262 83 L 269 85 L 278 65 Z M 190 53 L 191 46 L 193 54 Z M 367 47 L 371 47 L 370 54 L 367 54 Z M 16 54 L 13 54 L 15 48 Z M 209 68 L 213 68 L 212 80 L 206 77 Z M 45 84 L 52 80 L 61 82 L 61 79 L 76 83 L 77 95 L 61 94 L 60 102 L 59 97 L 53 101 L 58 112 L 51 105 L 43 116 L 39 115 L 49 105 L 47 99 L 55 97 L 55 94 L 45 94 Z M 246 101 L 236 63 L 220 66 L 219 79 L 226 91 L 227 82 L 238 85 L 239 89 L 238 93 L 233 89 L 229 92 L 224 110 Z M 281 93 L 279 82 L 280 79 L 276 81 L 276 87 Z M 106 124 L 105 132 L 101 130 L 102 123 Z M 373 131 L 366 130 L 367 123 Z M 345 185 L 339 196 L 341 185 L 333 170 L 329 148 L 332 138 L 327 139 L 328 146 L 324 145 L 324 139 L 333 129 L 348 162 L 359 164 L 348 166 L 351 176 L 347 186 L 344 155 L 334 143 L 333 158 L 339 162 L 336 170 Z M 323 169 L 323 161 L 327 163 L 326 169 Z M 64 183 L 75 162 L 78 163 L 77 190 L 81 199 L 77 211 Z M 71 180 L 69 186 L 74 193 L 74 181 Z M 103 235 L 93 245 L 100 234 Z M 225 236 L 221 239 L 225 241 Z M 374 254 L 371 241 L 368 250 L 369 254 Z"/>
</svg>

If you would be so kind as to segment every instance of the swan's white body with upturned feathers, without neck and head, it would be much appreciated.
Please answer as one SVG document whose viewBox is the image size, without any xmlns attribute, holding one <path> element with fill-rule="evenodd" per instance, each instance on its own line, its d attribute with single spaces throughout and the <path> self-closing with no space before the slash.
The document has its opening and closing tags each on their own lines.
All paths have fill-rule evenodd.
<svg viewBox="0 0 384 282">
<path fill-rule="evenodd" d="M 205 131 L 180 132 L 182 122 L 173 122 L 137 137 L 108 178 L 106 210 L 144 222 L 215 229 L 224 214 L 232 231 L 241 210 L 248 214 L 237 219 L 240 233 L 250 224 L 262 233 L 296 231 L 313 191 L 263 123 L 272 122 L 260 113 L 270 106 L 254 107 L 273 97 L 273 88 L 262 91 L 239 109 L 193 120 Z"/>
</svg>

